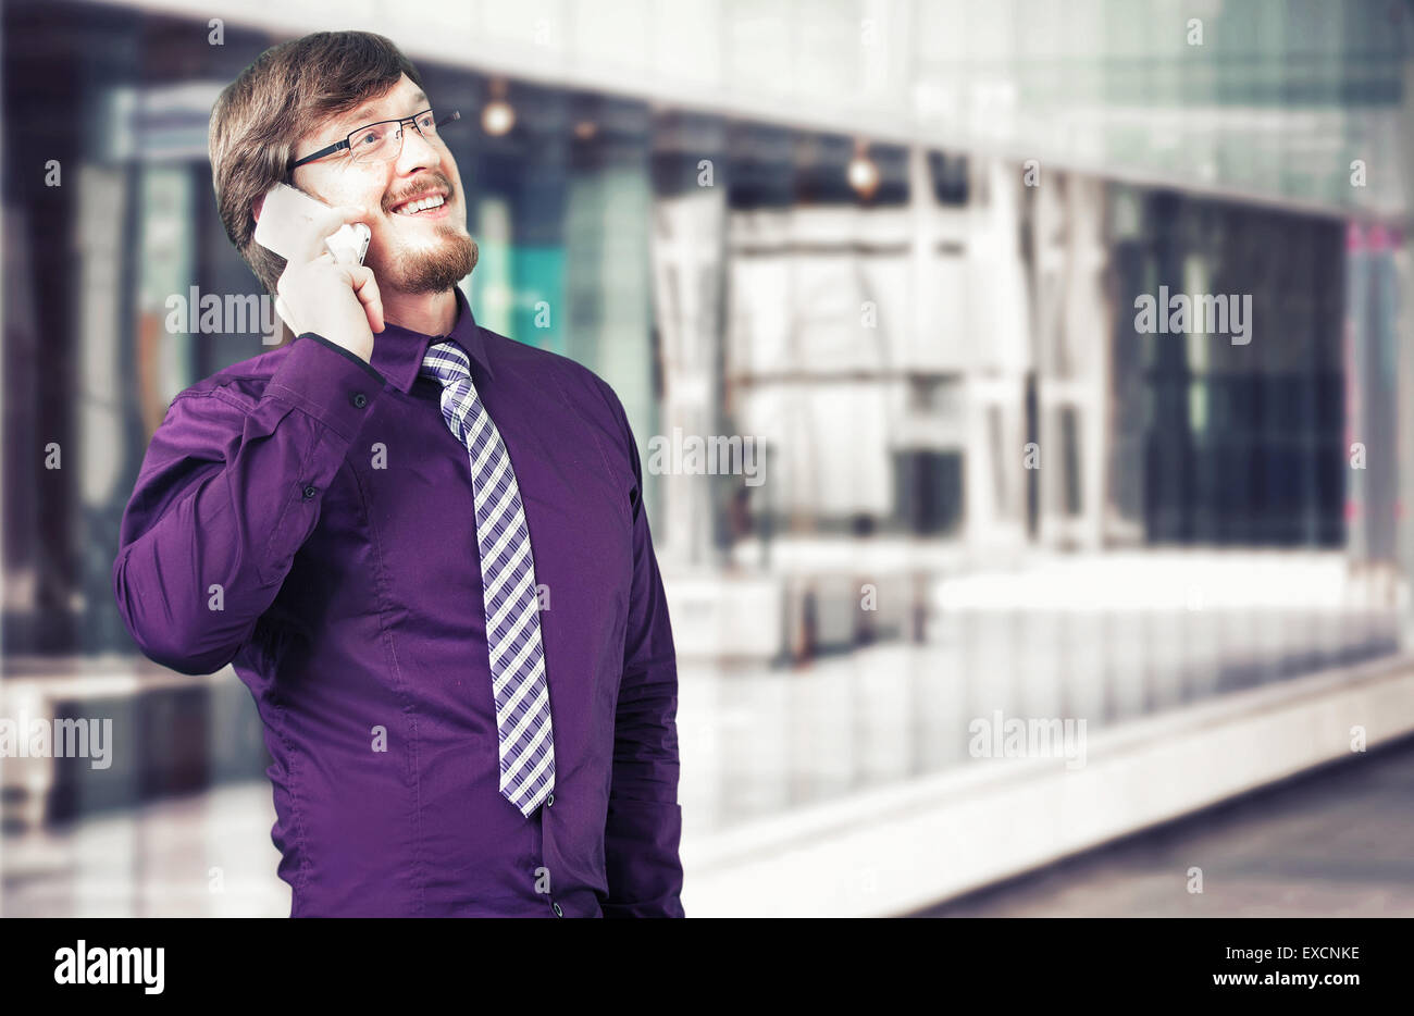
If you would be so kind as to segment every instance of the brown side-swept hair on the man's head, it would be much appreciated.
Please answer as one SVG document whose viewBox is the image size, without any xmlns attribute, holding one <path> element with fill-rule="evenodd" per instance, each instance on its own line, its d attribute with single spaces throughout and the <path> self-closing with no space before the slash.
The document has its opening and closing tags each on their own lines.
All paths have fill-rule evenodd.
<svg viewBox="0 0 1414 1016">
<path fill-rule="evenodd" d="M 321 31 L 266 50 L 216 99 L 208 136 L 216 209 L 226 236 L 270 296 L 284 258 L 255 242 L 252 205 L 286 180 L 296 142 L 314 125 L 378 98 L 404 74 L 424 88 L 392 40 L 368 31 Z"/>
</svg>

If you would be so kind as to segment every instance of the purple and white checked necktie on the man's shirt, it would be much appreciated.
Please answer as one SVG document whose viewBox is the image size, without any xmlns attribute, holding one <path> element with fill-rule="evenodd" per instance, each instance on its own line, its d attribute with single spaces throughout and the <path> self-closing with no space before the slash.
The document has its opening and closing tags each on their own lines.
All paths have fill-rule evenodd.
<svg viewBox="0 0 1414 1016">
<path fill-rule="evenodd" d="M 501 794 L 529 818 L 554 790 L 554 741 L 534 560 L 520 488 L 501 432 L 471 383 L 465 351 L 455 342 L 437 342 L 423 358 L 421 374 L 441 382 L 443 419 L 471 454 L 491 688 L 501 740 Z"/>
</svg>

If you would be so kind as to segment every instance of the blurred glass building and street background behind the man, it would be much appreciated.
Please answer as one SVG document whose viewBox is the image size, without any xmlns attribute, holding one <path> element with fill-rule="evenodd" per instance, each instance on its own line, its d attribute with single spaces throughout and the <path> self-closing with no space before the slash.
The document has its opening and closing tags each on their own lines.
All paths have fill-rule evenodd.
<svg viewBox="0 0 1414 1016">
<path fill-rule="evenodd" d="M 168 323 L 260 291 L 211 105 L 331 28 L 462 112 L 481 324 L 761 451 L 645 477 L 690 916 L 1414 914 L 1408 0 L 4 0 L 0 719 L 115 750 L 0 757 L 0 913 L 288 914 L 110 575 L 269 348 Z"/>
</svg>

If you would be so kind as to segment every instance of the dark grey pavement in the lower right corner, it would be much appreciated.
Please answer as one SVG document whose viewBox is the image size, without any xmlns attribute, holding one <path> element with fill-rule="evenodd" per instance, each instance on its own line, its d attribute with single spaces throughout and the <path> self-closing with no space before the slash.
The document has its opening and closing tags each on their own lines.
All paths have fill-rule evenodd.
<svg viewBox="0 0 1414 1016">
<path fill-rule="evenodd" d="M 1414 917 L 1414 737 L 911 916 Z"/>
</svg>

